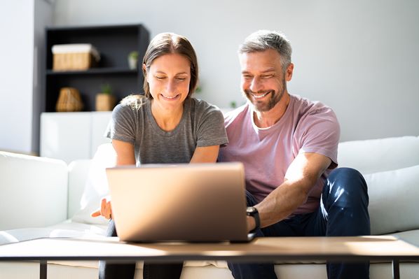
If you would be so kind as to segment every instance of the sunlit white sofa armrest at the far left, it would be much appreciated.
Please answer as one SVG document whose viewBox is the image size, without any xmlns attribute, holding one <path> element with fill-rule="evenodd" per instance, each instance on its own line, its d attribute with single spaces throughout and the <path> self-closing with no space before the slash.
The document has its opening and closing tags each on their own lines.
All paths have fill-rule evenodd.
<svg viewBox="0 0 419 279">
<path fill-rule="evenodd" d="M 0 151 L 0 230 L 67 219 L 67 164 Z"/>
</svg>

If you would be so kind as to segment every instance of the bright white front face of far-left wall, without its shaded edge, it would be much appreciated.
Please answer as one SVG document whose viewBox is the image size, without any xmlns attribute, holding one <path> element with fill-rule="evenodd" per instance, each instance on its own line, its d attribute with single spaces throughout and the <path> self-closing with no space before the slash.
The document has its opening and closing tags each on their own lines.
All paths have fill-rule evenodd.
<svg viewBox="0 0 419 279">
<path fill-rule="evenodd" d="M 34 0 L 0 2 L 0 150 L 31 152 Z"/>
</svg>

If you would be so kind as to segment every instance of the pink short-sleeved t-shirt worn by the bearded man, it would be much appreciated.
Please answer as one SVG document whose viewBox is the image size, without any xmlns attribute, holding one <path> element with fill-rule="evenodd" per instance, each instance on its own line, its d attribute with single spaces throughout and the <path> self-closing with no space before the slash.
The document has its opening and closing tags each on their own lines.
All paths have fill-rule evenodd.
<svg viewBox="0 0 419 279">
<path fill-rule="evenodd" d="M 329 157 L 331 166 L 313 185 L 307 201 L 292 214 L 296 215 L 310 213 L 319 206 L 324 180 L 338 164 L 341 131 L 331 108 L 300 96 L 290 97 L 284 115 L 266 129 L 256 127 L 248 104 L 226 114 L 224 124 L 229 143 L 221 147 L 219 161 L 242 162 L 246 189 L 260 202 L 284 182 L 289 164 L 299 153 Z"/>
</svg>

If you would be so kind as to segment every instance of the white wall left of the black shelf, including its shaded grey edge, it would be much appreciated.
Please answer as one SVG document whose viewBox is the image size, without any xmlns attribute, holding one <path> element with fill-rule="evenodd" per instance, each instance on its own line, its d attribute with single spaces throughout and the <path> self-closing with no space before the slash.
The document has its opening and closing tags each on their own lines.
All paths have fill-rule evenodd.
<svg viewBox="0 0 419 279">
<path fill-rule="evenodd" d="M 39 152 L 46 0 L 0 3 L 0 150 Z"/>
</svg>

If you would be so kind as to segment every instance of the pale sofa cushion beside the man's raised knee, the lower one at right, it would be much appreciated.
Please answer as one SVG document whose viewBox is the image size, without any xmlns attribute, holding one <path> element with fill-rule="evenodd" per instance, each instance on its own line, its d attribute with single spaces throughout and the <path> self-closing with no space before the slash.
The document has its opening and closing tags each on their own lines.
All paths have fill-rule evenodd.
<svg viewBox="0 0 419 279">
<path fill-rule="evenodd" d="M 419 165 L 364 176 L 371 234 L 419 229 Z"/>
</svg>

